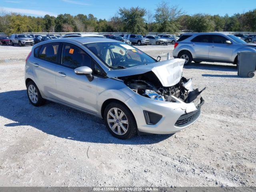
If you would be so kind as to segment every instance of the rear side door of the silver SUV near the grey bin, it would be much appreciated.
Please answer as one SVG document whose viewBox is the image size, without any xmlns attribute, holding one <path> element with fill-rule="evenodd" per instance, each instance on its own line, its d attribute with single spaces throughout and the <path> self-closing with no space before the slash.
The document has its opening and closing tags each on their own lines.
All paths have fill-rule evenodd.
<svg viewBox="0 0 256 192">
<path fill-rule="evenodd" d="M 194 49 L 194 59 L 208 59 L 209 58 L 209 47 L 210 47 L 210 36 L 209 35 L 198 35 L 191 40 L 192 48 Z"/>
</svg>

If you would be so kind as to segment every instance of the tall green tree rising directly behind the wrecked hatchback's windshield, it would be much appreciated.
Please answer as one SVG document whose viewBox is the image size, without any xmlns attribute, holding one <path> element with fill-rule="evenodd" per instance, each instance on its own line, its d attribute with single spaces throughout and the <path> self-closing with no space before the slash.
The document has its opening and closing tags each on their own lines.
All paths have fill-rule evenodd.
<svg viewBox="0 0 256 192">
<path fill-rule="evenodd" d="M 119 14 L 124 23 L 124 30 L 131 33 L 146 33 L 144 16 L 146 10 L 139 7 L 119 8 Z"/>
</svg>

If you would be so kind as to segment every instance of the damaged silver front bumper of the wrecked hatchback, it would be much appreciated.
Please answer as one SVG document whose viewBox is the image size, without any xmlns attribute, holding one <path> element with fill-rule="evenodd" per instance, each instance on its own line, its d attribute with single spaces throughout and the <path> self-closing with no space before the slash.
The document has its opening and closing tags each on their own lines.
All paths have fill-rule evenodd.
<svg viewBox="0 0 256 192">
<path fill-rule="evenodd" d="M 159 101 L 139 94 L 135 94 L 126 101 L 126 105 L 134 114 L 138 131 L 152 134 L 172 134 L 192 125 L 198 120 L 203 104 L 202 97 L 200 103 L 195 106 L 193 102 Z M 162 118 L 156 124 L 147 124 L 144 111 L 159 114 Z"/>
</svg>

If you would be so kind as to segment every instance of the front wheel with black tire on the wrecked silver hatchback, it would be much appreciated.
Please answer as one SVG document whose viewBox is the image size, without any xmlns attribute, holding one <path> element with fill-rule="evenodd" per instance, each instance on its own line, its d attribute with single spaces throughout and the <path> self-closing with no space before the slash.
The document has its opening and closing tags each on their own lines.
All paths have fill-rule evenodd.
<svg viewBox="0 0 256 192">
<path fill-rule="evenodd" d="M 106 106 L 104 120 L 108 131 L 118 139 L 132 138 L 137 132 L 132 112 L 121 102 L 111 102 Z"/>
</svg>

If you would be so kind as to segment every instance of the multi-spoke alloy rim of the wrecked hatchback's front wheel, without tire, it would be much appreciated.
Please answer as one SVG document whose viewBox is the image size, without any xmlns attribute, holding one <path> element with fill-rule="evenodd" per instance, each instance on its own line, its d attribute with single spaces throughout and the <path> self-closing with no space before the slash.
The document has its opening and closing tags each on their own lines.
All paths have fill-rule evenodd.
<svg viewBox="0 0 256 192">
<path fill-rule="evenodd" d="M 124 112 L 119 108 L 111 108 L 108 111 L 107 122 L 108 126 L 115 134 L 126 134 L 129 126 L 128 119 L 126 114 L 124 114 Z"/>
</svg>

